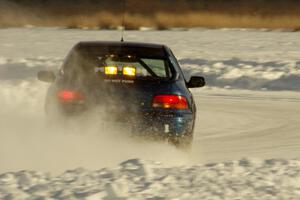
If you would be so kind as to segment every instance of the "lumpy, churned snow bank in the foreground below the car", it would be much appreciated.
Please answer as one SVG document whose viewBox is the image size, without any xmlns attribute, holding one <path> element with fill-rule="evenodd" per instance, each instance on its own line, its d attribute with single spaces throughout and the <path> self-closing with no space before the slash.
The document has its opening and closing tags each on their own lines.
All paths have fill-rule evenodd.
<svg viewBox="0 0 300 200">
<path fill-rule="evenodd" d="M 299 199 L 299 160 L 227 161 L 163 167 L 131 159 L 115 169 L 0 175 L 1 199 Z"/>
</svg>

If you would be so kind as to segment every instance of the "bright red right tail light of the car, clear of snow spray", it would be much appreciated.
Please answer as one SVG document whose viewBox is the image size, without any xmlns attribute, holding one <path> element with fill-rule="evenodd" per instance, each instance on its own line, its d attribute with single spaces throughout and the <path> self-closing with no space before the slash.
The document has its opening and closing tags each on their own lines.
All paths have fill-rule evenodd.
<svg viewBox="0 0 300 200">
<path fill-rule="evenodd" d="M 188 103 L 184 96 L 158 95 L 153 98 L 152 107 L 185 110 L 188 109 Z"/>
</svg>

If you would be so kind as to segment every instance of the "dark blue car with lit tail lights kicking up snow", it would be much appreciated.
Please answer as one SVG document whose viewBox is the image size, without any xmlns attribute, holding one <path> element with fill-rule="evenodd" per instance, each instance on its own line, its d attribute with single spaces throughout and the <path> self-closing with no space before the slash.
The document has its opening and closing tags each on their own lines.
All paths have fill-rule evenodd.
<svg viewBox="0 0 300 200">
<path fill-rule="evenodd" d="M 185 80 L 167 46 L 132 42 L 80 42 L 57 76 L 41 71 L 38 79 L 53 82 L 45 104 L 49 114 L 68 117 L 100 107 L 104 120 L 178 146 L 193 138 L 196 107 L 188 88 L 205 85 L 203 77 Z"/>
</svg>

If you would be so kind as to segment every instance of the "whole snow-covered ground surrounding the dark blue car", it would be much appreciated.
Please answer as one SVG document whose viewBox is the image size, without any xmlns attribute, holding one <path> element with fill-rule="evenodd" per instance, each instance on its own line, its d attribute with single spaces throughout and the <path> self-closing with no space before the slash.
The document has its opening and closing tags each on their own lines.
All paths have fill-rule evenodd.
<svg viewBox="0 0 300 200">
<path fill-rule="evenodd" d="M 119 38 L 0 29 L 0 199 L 300 199 L 300 32 L 126 33 L 170 46 L 187 77 L 206 77 L 207 87 L 193 89 L 189 153 L 130 139 L 95 117 L 47 123 L 48 84 L 36 72 L 57 70 L 78 41 Z"/>
</svg>

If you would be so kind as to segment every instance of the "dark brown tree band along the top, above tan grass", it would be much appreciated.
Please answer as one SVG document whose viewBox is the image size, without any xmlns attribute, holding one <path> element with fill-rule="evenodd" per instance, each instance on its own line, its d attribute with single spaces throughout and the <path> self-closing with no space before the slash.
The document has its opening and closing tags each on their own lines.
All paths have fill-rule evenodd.
<svg viewBox="0 0 300 200">
<path fill-rule="evenodd" d="M 1 0 L 0 9 L 22 7 L 48 14 L 77 12 L 120 12 L 123 0 Z M 154 12 L 217 12 L 253 15 L 300 15 L 299 0 L 126 0 L 127 11 L 151 15 Z M 1 5 L 2 4 L 2 5 Z"/>
</svg>

